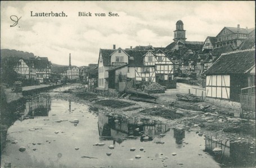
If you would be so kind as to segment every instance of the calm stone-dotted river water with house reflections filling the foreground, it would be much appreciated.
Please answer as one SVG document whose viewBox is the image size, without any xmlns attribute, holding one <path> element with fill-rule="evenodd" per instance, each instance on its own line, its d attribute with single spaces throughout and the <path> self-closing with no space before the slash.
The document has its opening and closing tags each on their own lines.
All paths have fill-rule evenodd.
<svg viewBox="0 0 256 168">
<path fill-rule="evenodd" d="M 87 105 L 55 95 L 54 91 L 42 93 L 26 101 L 24 115 L 8 128 L 1 167 L 253 167 L 255 164 L 250 146 L 229 142 L 226 147 L 220 146 L 196 132 L 173 129 L 172 125 L 150 118 L 106 115 L 104 111 L 94 114 Z M 19 151 L 20 147 L 25 151 Z M 221 154 L 211 153 L 215 147 L 222 148 Z"/>
</svg>

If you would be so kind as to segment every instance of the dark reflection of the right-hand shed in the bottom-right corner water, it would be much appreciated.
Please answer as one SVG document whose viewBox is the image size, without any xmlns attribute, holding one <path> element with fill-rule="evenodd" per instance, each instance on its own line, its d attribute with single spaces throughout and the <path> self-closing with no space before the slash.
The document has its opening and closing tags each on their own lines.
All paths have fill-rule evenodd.
<svg viewBox="0 0 256 168">
<path fill-rule="evenodd" d="M 206 137 L 204 151 L 209 152 L 222 167 L 254 167 L 256 165 L 255 146 L 250 143 Z"/>
</svg>

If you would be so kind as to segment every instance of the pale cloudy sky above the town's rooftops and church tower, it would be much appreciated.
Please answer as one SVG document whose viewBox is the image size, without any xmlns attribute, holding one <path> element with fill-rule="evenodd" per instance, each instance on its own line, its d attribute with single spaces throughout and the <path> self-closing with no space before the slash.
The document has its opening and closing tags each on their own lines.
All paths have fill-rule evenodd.
<svg viewBox="0 0 256 168">
<path fill-rule="evenodd" d="M 66 17 L 35 17 L 61 13 Z M 79 12 L 92 16 L 78 16 Z M 118 16 L 109 16 L 109 12 Z M 95 16 L 105 13 L 106 16 Z M 14 16 L 12 16 L 14 15 Z M 12 17 L 11 17 L 12 16 Z M 16 26 L 16 17 L 20 18 Z M 11 20 L 12 18 L 12 20 Z M 255 27 L 254 1 L 1 1 L 1 49 L 48 57 L 55 64 L 88 66 L 101 49 L 165 47 L 182 20 L 187 41 L 205 41 L 223 27 Z"/>
</svg>

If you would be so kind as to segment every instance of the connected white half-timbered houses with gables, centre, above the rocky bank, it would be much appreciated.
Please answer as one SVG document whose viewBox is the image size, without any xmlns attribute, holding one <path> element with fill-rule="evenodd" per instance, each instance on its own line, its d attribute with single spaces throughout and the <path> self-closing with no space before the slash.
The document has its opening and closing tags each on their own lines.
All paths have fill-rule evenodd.
<svg viewBox="0 0 256 168">
<path fill-rule="evenodd" d="M 117 88 L 120 82 L 156 82 L 173 80 L 173 62 L 161 50 L 100 49 L 98 89 Z M 157 75 L 156 75 L 157 72 Z"/>
</svg>

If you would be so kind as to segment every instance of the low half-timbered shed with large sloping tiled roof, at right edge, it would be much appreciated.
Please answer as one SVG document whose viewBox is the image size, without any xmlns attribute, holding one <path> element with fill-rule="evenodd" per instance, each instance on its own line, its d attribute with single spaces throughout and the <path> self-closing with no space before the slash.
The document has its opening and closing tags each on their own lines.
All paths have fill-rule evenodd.
<svg viewBox="0 0 256 168">
<path fill-rule="evenodd" d="M 203 74 L 206 97 L 239 101 L 241 88 L 248 87 L 250 70 L 255 67 L 255 49 L 224 53 Z"/>
</svg>

